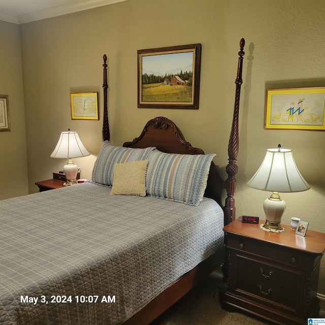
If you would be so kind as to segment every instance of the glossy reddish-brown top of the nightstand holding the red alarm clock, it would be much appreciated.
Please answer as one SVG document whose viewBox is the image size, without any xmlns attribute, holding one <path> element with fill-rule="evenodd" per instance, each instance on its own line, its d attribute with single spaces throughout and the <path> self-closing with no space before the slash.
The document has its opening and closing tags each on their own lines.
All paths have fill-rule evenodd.
<svg viewBox="0 0 325 325">
<path fill-rule="evenodd" d="M 224 226 L 223 231 L 229 234 L 249 237 L 255 240 L 262 240 L 300 249 L 313 254 L 323 254 L 325 251 L 325 234 L 307 230 L 306 236 L 297 235 L 294 230 L 290 230 L 289 225 L 281 224 L 284 231 L 281 233 L 267 232 L 259 228 L 265 220 L 259 220 L 259 224 L 242 223 L 241 217 Z"/>
</svg>

